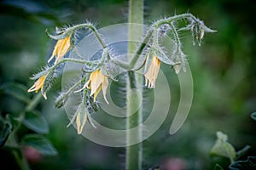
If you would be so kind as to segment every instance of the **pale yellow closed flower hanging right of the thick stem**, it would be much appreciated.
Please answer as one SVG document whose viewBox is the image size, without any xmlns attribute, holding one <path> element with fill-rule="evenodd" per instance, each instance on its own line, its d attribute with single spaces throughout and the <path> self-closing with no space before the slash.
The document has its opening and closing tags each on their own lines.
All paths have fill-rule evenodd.
<svg viewBox="0 0 256 170">
<path fill-rule="evenodd" d="M 148 62 L 148 59 L 147 59 L 147 62 Z M 154 88 L 155 87 L 155 80 L 157 78 L 157 75 L 158 75 L 158 72 L 159 72 L 159 69 L 160 69 L 160 64 L 161 64 L 160 59 L 158 59 L 154 54 L 153 58 L 152 58 L 151 65 L 148 68 L 148 72 L 144 75 L 144 77 L 145 77 L 145 86 L 148 86 L 148 88 Z"/>
</svg>

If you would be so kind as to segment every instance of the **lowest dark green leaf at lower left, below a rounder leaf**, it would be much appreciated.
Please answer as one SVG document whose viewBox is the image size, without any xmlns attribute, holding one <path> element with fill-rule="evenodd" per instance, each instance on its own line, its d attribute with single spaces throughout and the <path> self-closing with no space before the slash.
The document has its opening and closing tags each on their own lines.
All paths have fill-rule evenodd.
<svg viewBox="0 0 256 170">
<path fill-rule="evenodd" d="M 55 147 L 42 135 L 28 134 L 22 139 L 21 144 L 32 146 L 44 156 L 56 156 L 58 154 Z"/>
</svg>

